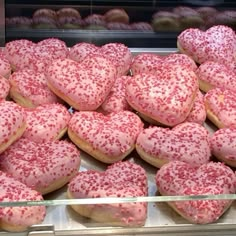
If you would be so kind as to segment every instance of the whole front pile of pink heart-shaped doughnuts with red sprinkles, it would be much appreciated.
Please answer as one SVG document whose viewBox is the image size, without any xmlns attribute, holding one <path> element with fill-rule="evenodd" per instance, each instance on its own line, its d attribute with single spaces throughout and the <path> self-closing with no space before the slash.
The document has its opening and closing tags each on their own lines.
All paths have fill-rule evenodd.
<svg viewBox="0 0 236 236">
<path fill-rule="evenodd" d="M 67 14 L 65 9 L 61 17 Z M 229 86 L 234 83 L 235 35 L 218 26 L 205 33 L 187 30 L 178 40 L 181 53 L 135 57 L 121 43 L 78 43 L 70 50 L 55 38 L 7 43 L 0 54 L 5 92 L 0 98 L 0 171 L 34 195 L 19 198 L 41 200 L 65 185 L 70 199 L 148 196 L 148 173 L 131 156 L 157 168 L 160 194 L 235 193 L 236 176 L 226 166 L 236 166 L 230 141 L 236 136 L 235 91 Z M 233 65 L 225 65 L 229 58 L 224 60 L 223 51 Z M 214 134 L 205 127 L 206 116 L 219 128 Z M 82 152 L 106 170 L 80 171 Z M 212 162 L 213 156 L 219 161 Z M 213 177 L 225 187 L 217 187 Z M 203 224 L 217 221 L 232 203 L 219 202 L 215 212 L 213 200 L 170 205 L 190 222 Z M 141 226 L 147 218 L 146 203 L 72 208 L 108 225 Z M 35 211 L 27 225 L 0 225 L 20 231 L 42 222 L 45 208 L 30 209 Z"/>
</svg>

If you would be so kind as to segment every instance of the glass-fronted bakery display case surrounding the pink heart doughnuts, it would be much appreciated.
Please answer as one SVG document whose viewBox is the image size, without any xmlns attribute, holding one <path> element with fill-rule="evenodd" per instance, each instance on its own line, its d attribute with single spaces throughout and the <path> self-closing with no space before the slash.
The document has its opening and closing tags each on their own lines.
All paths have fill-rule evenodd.
<svg viewBox="0 0 236 236">
<path fill-rule="evenodd" d="M 79 42 L 93 43 L 97 46 L 118 42 L 125 44 L 131 50 L 133 56 L 141 53 L 166 56 L 177 52 L 177 36 L 186 28 L 198 27 L 204 30 L 212 25 L 225 24 L 235 29 L 236 26 L 236 3 L 234 1 L 38 0 L 32 2 L 30 0 L 6 0 L 0 1 L 0 4 L 0 22 L 2 24 L 0 25 L 0 42 L 2 47 L 4 47 L 5 43 L 16 39 L 24 38 L 39 42 L 47 38 L 59 38 L 66 42 L 69 48 Z M 214 11 L 215 15 L 211 15 L 208 22 L 206 22 L 206 18 L 203 15 L 200 15 L 199 9 L 203 9 L 202 7 L 208 7 L 205 9 L 213 9 Z M 54 20 L 46 19 L 45 15 L 43 19 L 40 17 L 35 19 L 37 10 L 45 8 L 54 12 L 58 12 L 62 8 L 73 8 L 79 12 L 79 16 L 71 17 L 67 13 L 63 21 L 59 21 L 58 17 Z M 126 22 L 122 22 L 124 21 L 123 16 L 120 21 L 117 19 L 111 22 L 104 20 L 104 15 L 111 9 L 124 10 L 127 13 Z M 182 13 L 180 13 L 181 10 L 183 10 Z M 222 16 L 223 13 L 225 15 Z M 178 14 L 179 16 L 177 16 Z M 216 14 L 218 14 L 217 17 Z M 89 16 L 95 16 L 95 18 L 89 21 Z M 98 16 L 103 16 L 102 22 Z M 117 18 L 119 19 L 119 17 Z M 66 24 L 64 24 L 65 22 Z M 141 24 L 138 25 L 138 23 Z M 110 28 L 108 25 L 110 25 Z M 68 109 L 70 109 L 70 112 L 73 110 L 70 107 Z M 216 130 L 216 127 L 208 120 L 204 123 L 204 127 L 210 133 Z M 64 139 L 68 140 L 68 136 L 65 135 Z M 125 160 L 144 168 L 148 178 L 147 196 L 68 199 L 68 186 L 65 185 L 59 190 L 46 194 L 44 200 L 41 201 L 0 202 L 1 208 L 19 206 L 46 206 L 47 208 L 42 224 L 33 225 L 24 232 L 0 231 L 0 236 L 235 235 L 236 202 L 234 200 L 236 199 L 236 194 L 161 196 L 155 184 L 155 176 L 158 169 L 143 161 L 135 150 Z M 105 171 L 107 167 L 108 164 L 101 163 L 81 151 L 81 165 L 78 171 Z M 233 171 L 235 170 L 233 169 Z M 167 204 L 173 201 L 195 202 L 199 200 L 216 202 L 231 200 L 233 202 L 219 220 L 212 224 L 189 223 Z M 71 205 L 131 204 L 140 202 L 147 203 L 147 218 L 145 224 L 140 227 L 112 226 L 109 225 L 109 222 L 98 223 L 80 216 L 70 207 Z"/>
</svg>

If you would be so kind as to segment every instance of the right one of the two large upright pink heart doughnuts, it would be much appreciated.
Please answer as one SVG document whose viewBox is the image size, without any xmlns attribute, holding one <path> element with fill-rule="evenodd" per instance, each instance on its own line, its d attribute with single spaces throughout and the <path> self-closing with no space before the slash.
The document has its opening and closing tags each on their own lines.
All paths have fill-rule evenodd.
<svg viewBox="0 0 236 236">
<path fill-rule="evenodd" d="M 146 117 L 175 126 L 189 115 L 197 91 L 198 78 L 191 69 L 168 64 L 156 74 L 141 73 L 128 79 L 126 100 Z"/>
</svg>

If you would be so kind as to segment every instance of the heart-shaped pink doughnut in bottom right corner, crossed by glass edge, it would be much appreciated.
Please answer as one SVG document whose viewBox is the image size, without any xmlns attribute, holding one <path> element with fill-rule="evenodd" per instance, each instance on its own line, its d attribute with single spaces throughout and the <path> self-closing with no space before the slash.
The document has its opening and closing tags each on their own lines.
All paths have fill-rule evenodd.
<svg viewBox="0 0 236 236">
<path fill-rule="evenodd" d="M 174 161 L 157 172 L 156 184 L 158 191 L 165 196 L 234 194 L 236 176 L 220 162 L 209 162 L 194 168 Z M 188 221 L 208 224 L 217 221 L 231 203 L 231 200 L 194 200 L 168 204 Z"/>
</svg>

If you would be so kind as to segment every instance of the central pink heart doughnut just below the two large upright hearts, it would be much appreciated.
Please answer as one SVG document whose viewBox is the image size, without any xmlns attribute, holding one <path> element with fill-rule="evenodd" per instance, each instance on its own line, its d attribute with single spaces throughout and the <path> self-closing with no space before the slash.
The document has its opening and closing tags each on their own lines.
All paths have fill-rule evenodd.
<svg viewBox="0 0 236 236">
<path fill-rule="evenodd" d="M 97 160 L 114 163 L 135 148 L 143 129 L 141 119 L 130 111 L 102 113 L 75 112 L 68 125 L 68 135 L 80 149 Z"/>
</svg>

